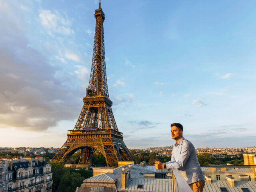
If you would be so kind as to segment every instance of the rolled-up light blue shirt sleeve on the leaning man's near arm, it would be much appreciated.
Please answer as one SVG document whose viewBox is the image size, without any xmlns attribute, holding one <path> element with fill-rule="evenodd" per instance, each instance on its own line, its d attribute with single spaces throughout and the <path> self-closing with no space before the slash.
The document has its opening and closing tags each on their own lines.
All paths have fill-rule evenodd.
<svg viewBox="0 0 256 192">
<path fill-rule="evenodd" d="M 192 152 L 192 146 L 190 142 L 185 142 L 181 146 L 180 156 L 179 159 L 174 158 L 174 153 L 172 153 L 172 158 L 169 162 L 166 162 L 166 168 L 181 168 L 184 166 L 184 164 L 187 162 L 191 152 Z"/>
</svg>

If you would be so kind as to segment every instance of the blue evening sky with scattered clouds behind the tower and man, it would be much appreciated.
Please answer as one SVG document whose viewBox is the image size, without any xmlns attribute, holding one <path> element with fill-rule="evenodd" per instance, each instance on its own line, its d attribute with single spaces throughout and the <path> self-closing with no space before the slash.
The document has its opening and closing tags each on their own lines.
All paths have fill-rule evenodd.
<svg viewBox="0 0 256 192">
<path fill-rule="evenodd" d="M 256 146 L 256 1 L 102 0 L 130 149 Z M 98 0 L 0 0 L 0 147 L 61 147 L 83 106 Z"/>
</svg>

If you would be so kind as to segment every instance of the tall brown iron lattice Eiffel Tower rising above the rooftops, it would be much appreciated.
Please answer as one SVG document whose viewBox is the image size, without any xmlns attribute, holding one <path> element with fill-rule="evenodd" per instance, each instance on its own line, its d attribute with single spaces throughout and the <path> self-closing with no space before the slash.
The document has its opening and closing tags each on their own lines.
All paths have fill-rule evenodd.
<svg viewBox="0 0 256 192">
<path fill-rule="evenodd" d="M 108 95 L 106 76 L 103 22 L 104 12 L 95 10 L 96 18 L 92 69 L 83 108 L 73 130 L 68 130 L 68 139 L 53 160 L 66 161 L 81 150 L 79 164 L 91 164 L 92 154 L 99 150 L 106 158 L 107 166 L 117 167 L 118 162 L 133 161 L 118 131 Z"/>
</svg>

